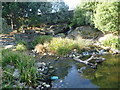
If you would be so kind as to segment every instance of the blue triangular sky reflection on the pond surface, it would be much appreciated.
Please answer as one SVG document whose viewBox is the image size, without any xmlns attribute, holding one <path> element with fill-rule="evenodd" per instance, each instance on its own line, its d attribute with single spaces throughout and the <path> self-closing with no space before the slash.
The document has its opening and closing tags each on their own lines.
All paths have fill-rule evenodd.
<svg viewBox="0 0 120 90">
<path fill-rule="evenodd" d="M 53 88 L 97 88 L 98 86 L 91 83 L 78 73 L 76 65 L 72 65 L 67 76 L 63 80 L 59 79 L 53 82 Z"/>
</svg>

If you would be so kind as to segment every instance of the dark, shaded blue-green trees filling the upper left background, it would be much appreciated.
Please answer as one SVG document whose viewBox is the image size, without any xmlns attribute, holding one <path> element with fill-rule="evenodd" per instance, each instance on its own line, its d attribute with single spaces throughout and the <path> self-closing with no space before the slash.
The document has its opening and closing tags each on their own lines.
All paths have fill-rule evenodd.
<svg viewBox="0 0 120 90">
<path fill-rule="evenodd" d="M 64 2 L 3 2 L 2 18 L 12 29 L 18 29 L 21 25 L 67 21 L 68 9 Z M 56 12 L 58 14 L 54 15 Z"/>
</svg>

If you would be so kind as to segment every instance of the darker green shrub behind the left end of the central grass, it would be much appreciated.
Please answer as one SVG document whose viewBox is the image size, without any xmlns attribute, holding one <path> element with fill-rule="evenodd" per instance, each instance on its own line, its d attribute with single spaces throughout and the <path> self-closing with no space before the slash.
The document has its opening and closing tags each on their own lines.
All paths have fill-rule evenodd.
<svg viewBox="0 0 120 90">
<path fill-rule="evenodd" d="M 52 36 L 49 35 L 39 36 L 32 41 L 31 47 L 34 48 L 37 44 L 44 44 L 45 42 L 50 42 L 51 40 L 52 40 Z"/>
</svg>

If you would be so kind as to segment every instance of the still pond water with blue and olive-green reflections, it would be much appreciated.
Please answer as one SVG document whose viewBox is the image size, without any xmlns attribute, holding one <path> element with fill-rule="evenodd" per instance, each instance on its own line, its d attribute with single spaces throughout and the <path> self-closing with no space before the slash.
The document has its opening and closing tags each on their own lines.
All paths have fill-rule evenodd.
<svg viewBox="0 0 120 90">
<path fill-rule="evenodd" d="M 59 79 L 52 81 L 52 88 L 118 88 L 119 87 L 119 58 L 120 55 L 106 55 L 102 64 L 96 70 L 86 66 L 83 72 L 78 69 L 85 67 L 77 61 L 61 58 L 53 63 L 55 76 Z M 52 59 L 44 59 L 52 61 Z"/>
</svg>

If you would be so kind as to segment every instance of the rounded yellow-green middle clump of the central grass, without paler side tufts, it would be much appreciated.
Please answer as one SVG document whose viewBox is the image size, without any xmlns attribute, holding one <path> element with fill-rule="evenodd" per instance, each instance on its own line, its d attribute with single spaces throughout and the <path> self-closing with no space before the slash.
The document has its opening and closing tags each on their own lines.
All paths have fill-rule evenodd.
<svg viewBox="0 0 120 90">
<path fill-rule="evenodd" d="M 74 48 L 74 43 L 74 40 L 67 38 L 53 38 L 48 47 L 52 53 L 65 55 Z"/>
</svg>

